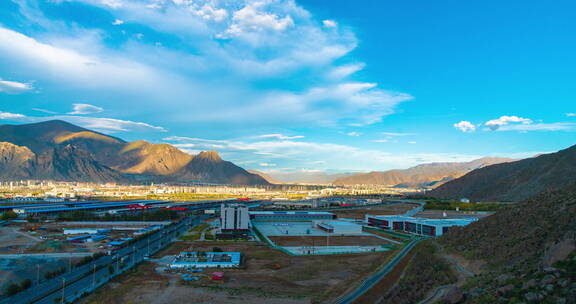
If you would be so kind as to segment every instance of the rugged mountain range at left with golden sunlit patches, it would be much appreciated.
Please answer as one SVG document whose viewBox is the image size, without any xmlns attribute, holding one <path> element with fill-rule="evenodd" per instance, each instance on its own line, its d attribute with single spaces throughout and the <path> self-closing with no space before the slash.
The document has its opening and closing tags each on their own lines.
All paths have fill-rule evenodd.
<svg viewBox="0 0 576 304">
<path fill-rule="evenodd" d="M 190 155 L 168 144 L 120 138 L 53 120 L 0 126 L 1 180 L 268 184 L 216 151 Z"/>
</svg>

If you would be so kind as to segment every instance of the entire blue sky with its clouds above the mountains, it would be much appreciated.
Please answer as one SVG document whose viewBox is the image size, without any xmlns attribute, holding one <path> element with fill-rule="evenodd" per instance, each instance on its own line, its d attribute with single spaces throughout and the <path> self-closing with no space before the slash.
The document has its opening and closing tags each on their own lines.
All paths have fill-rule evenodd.
<svg viewBox="0 0 576 304">
<path fill-rule="evenodd" d="M 245 168 L 527 157 L 576 138 L 569 1 L 0 1 L 0 120 Z"/>
</svg>

